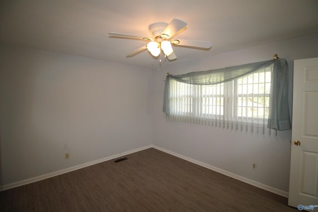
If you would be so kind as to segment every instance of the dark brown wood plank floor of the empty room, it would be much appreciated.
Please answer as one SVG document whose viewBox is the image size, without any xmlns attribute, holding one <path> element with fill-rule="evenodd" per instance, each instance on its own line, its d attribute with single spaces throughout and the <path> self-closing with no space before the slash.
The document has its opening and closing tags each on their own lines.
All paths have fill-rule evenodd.
<svg viewBox="0 0 318 212">
<path fill-rule="evenodd" d="M 1 212 L 296 212 L 287 198 L 150 148 L 0 192 Z"/>
</svg>

